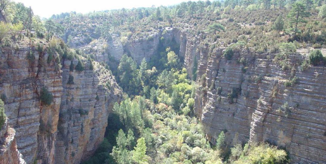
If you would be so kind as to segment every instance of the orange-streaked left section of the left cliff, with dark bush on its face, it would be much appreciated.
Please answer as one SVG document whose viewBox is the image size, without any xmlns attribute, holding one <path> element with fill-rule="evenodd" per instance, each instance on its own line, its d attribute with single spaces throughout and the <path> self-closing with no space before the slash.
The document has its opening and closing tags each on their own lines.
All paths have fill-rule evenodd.
<svg viewBox="0 0 326 164">
<path fill-rule="evenodd" d="M 18 49 L 2 49 L 0 59 L 0 93 L 6 97 L 5 113 L 16 130 L 18 150 L 27 163 L 37 152 L 53 158 L 55 132 L 62 95 L 60 70 L 55 60 L 47 62 L 47 53 L 38 53 L 22 41 Z M 54 59 L 56 56 L 54 56 Z M 53 95 L 51 105 L 42 104 L 40 92 L 47 88 Z M 44 144 L 40 144 L 41 143 Z"/>
</svg>

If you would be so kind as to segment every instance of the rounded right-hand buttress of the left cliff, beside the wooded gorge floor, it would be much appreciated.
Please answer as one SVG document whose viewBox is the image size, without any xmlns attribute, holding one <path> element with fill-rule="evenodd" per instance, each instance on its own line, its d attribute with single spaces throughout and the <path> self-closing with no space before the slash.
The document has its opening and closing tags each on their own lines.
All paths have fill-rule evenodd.
<svg viewBox="0 0 326 164">
<path fill-rule="evenodd" d="M 69 71 L 63 64 L 63 96 L 55 150 L 55 163 L 80 163 L 103 141 L 108 114 L 122 97 L 110 71 L 94 62 L 94 70 Z M 73 65 L 78 61 L 73 60 Z M 88 68 L 89 64 L 86 63 Z M 68 84 L 73 76 L 73 84 Z"/>
</svg>

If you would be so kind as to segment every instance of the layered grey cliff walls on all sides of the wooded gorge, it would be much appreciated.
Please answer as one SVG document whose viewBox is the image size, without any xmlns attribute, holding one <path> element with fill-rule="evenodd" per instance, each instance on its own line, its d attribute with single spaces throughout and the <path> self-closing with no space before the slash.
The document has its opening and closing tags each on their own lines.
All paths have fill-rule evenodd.
<svg viewBox="0 0 326 164">
<path fill-rule="evenodd" d="M 162 45 L 171 41 L 179 45 L 188 75 L 196 77 L 195 114 L 212 143 L 224 131 L 230 145 L 269 142 L 285 148 L 291 163 L 326 163 L 326 69 L 310 66 L 301 71 L 299 63 L 307 58 L 308 49 L 290 55 L 292 69 L 282 70 L 273 61 L 277 53 L 254 53 L 241 47 L 227 60 L 223 57 L 226 47 L 202 43 L 201 36 L 178 28 L 164 28 L 126 45 L 113 38 L 77 47 L 95 57 L 93 70 L 81 57 L 85 70 L 80 72 L 69 69 L 71 63 L 78 64 L 76 58 L 48 63 L 48 54 L 34 48 L 35 60 L 30 61 L 24 42 L 19 49 L 3 50 L 0 93 L 7 98 L 8 122 L 0 135 L 6 133 L 8 139 L 0 156 L 28 164 L 80 163 L 91 156 L 104 138 L 113 104 L 122 99 L 114 76 L 97 63 L 111 60 L 101 52 L 103 45 L 108 45 L 115 60 L 125 52 L 140 63 L 156 53 L 161 37 Z M 69 76 L 74 84 L 67 84 Z M 297 84 L 286 87 L 284 83 L 294 76 Z M 39 99 L 43 87 L 53 95 L 51 105 Z"/>
</svg>

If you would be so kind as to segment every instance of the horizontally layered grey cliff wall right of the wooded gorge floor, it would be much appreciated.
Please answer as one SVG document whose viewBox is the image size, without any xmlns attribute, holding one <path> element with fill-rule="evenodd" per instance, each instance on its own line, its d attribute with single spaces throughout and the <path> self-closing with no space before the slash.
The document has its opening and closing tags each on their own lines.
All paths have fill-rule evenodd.
<svg viewBox="0 0 326 164">
<path fill-rule="evenodd" d="M 293 69 L 282 70 L 273 62 L 276 53 L 238 49 L 228 61 L 225 48 L 173 33 L 189 76 L 197 70 L 195 113 L 212 142 L 224 131 L 230 145 L 270 142 L 286 148 L 292 163 L 326 163 L 326 68 L 300 71 L 309 52 L 291 55 Z M 285 87 L 294 76 L 298 83 Z"/>
</svg>

